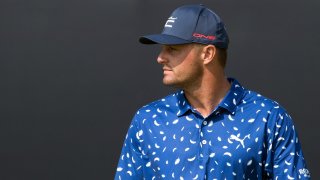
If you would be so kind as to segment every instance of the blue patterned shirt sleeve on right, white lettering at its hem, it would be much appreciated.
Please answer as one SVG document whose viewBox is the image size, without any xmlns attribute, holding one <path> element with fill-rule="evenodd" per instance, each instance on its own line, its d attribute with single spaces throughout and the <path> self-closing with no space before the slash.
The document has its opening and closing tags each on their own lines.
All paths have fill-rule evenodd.
<svg viewBox="0 0 320 180">
<path fill-rule="evenodd" d="M 269 122 L 265 170 L 270 179 L 310 179 L 291 117 L 279 110 Z"/>
</svg>

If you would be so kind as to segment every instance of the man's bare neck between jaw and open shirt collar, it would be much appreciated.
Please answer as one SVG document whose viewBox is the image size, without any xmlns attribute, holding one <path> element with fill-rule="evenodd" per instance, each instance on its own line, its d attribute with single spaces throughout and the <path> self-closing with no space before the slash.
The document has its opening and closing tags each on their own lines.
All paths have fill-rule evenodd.
<svg viewBox="0 0 320 180">
<path fill-rule="evenodd" d="M 185 88 L 185 96 L 193 108 L 203 117 L 207 117 L 219 105 L 230 89 L 230 83 L 224 76 L 203 78 L 198 86 Z"/>
</svg>

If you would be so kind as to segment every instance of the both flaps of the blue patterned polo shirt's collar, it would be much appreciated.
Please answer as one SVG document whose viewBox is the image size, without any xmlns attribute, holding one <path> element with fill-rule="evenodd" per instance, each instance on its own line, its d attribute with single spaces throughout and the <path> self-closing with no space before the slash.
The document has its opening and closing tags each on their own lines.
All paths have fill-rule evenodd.
<svg viewBox="0 0 320 180">
<path fill-rule="evenodd" d="M 223 98 L 216 109 L 222 108 L 230 113 L 234 114 L 237 108 L 237 105 L 241 102 L 244 88 L 240 85 L 240 83 L 233 78 L 228 78 L 228 81 L 231 83 L 230 90 L 227 95 Z M 177 116 L 180 117 L 184 115 L 187 111 L 194 111 L 192 106 L 189 104 L 188 100 L 185 97 L 184 91 L 180 90 L 175 93 L 177 98 L 177 107 L 179 109 Z"/>
</svg>

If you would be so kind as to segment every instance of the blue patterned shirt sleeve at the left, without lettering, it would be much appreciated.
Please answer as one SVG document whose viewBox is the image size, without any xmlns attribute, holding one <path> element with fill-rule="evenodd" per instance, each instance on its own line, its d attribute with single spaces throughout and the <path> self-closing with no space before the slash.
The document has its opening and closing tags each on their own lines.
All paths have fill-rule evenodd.
<svg viewBox="0 0 320 180">
<path fill-rule="evenodd" d="M 143 179 L 142 166 L 144 163 L 139 145 L 143 141 L 141 138 L 143 131 L 139 130 L 136 117 L 137 115 L 133 118 L 126 135 L 114 177 L 115 180 Z"/>
</svg>

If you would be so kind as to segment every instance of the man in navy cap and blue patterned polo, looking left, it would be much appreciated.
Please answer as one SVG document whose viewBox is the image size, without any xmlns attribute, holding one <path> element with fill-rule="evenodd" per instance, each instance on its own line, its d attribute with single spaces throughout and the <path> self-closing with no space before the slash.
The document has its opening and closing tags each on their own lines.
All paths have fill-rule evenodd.
<svg viewBox="0 0 320 180">
<path fill-rule="evenodd" d="M 225 77 L 228 35 L 203 5 L 177 8 L 163 32 L 163 83 L 179 88 L 139 109 L 115 179 L 309 179 L 289 114 Z"/>
</svg>

